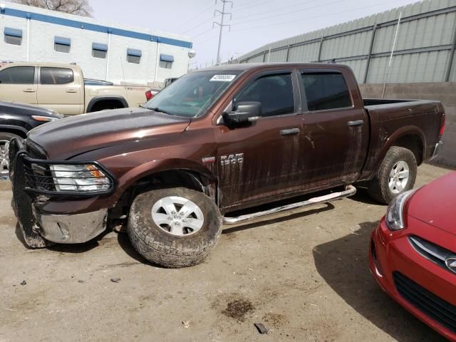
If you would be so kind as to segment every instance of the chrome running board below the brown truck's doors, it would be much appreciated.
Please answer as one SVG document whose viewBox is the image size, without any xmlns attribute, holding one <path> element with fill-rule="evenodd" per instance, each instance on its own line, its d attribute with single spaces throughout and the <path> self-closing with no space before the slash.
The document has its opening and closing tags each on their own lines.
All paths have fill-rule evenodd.
<svg viewBox="0 0 456 342">
<path fill-rule="evenodd" d="M 346 190 L 341 192 L 333 192 L 332 194 L 323 195 L 320 197 L 314 197 L 311 199 L 307 199 L 306 201 L 286 204 L 281 207 L 276 207 L 268 210 L 264 210 L 263 212 L 254 212 L 252 214 L 241 215 L 237 217 L 223 217 L 223 224 L 238 224 L 241 222 L 250 221 L 251 219 L 256 219 L 257 217 L 262 217 L 270 214 L 276 214 L 278 212 L 285 212 L 286 210 L 301 208 L 301 207 L 309 207 L 311 205 L 328 203 L 335 201 L 336 199 L 342 199 L 345 197 L 350 197 L 356 194 L 356 187 L 353 185 L 347 185 Z"/>
</svg>

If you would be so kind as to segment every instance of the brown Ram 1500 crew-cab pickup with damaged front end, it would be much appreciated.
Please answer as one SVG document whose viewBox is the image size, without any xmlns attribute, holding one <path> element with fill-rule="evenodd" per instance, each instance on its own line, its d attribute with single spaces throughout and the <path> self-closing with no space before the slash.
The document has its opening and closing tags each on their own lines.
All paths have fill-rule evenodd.
<svg viewBox="0 0 456 342">
<path fill-rule="evenodd" d="M 143 108 L 12 140 L 13 207 L 30 247 L 86 242 L 124 219 L 145 259 L 195 265 L 222 223 L 347 197 L 354 183 L 388 203 L 437 153 L 444 117 L 437 101 L 363 100 L 347 66 L 209 68 Z"/>
</svg>

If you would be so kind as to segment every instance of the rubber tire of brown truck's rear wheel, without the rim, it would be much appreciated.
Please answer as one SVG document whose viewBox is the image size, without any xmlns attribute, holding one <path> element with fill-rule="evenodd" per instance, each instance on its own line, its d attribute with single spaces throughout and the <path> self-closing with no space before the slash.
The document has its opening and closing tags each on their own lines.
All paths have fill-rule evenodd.
<svg viewBox="0 0 456 342">
<path fill-rule="evenodd" d="M 393 169 L 393 166 L 399 161 L 406 162 L 409 167 L 407 185 L 400 193 L 412 189 L 413 185 L 415 185 L 418 168 L 415 155 L 412 151 L 404 147 L 390 147 L 388 152 L 386 152 L 385 159 L 383 159 L 383 162 L 378 169 L 377 175 L 368 183 L 368 193 L 376 201 L 388 204 L 391 199 L 400 195 L 400 193 L 394 194 L 391 192 L 390 187 L 388 186 L 390 172 Z"/>
</svg>

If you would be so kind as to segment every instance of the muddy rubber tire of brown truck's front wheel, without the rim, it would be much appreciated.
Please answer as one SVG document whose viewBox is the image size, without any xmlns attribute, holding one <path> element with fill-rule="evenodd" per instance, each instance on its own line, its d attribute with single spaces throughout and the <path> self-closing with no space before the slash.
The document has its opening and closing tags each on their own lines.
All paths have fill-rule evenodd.
<svg viewBox="0 0 456 342">
<path fill-rule="evenodd" d="M 178 237 L 152 221 L 152 206 L 167 196 L 185 197 L 199 206 L 204 223 L 197 232 Z M 127 231 L 135 250 L 153 264 L 167 268 L 194 266 L 204 261 L 217 244 L 222 232 L 222 215 L 214 201 L 202 192 L 185 187 L 151 190 L 134 199 Z"/>
</svg>

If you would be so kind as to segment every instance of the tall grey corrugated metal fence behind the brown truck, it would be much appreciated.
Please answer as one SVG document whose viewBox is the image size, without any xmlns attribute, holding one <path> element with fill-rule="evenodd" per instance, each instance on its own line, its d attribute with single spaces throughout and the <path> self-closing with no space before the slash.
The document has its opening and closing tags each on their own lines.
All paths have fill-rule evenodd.
<svg viewBox="0 0 456 342">
<path fill-rule="evenodd" d="M 331 62 L 359 83 L 383 83 L 400 14 L 389 83 L 456 81 L 456 1 L 425 0 L 276 41 L 231 63 Z"/>
</svg>

